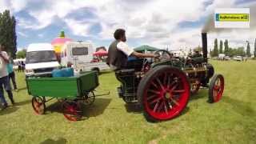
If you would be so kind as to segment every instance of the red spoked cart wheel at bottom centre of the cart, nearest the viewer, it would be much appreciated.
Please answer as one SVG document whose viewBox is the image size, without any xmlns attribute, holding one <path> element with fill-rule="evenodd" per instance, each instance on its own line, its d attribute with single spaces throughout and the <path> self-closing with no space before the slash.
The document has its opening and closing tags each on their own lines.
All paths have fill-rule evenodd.
<svg viewBox="0 0 256 144">
<path fill-rule="evenodd" d="M 63 114 L 70 121 L 78 121 L 82 118 L 82 109 L 78 102 L 65 101 L 62 104 Z"/>
</svg>

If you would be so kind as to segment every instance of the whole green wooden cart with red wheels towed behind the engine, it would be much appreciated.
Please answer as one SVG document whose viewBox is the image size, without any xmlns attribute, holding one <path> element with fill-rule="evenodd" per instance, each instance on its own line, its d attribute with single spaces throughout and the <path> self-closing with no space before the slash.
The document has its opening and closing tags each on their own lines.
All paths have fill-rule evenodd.
<svg viewBox="0 0 256 144">
<path fill-rule="evenodd" d="M 65 78 L 26 78 L 27 90 L 33 96 L 32 106 L 37 114 L 44 114 L 46 102 L 57 98 L 58 102 L 62 102 L 64 116 L 70 121 L 82 118 L 79 103 L 92 104 L 95 100 L 94 89 L 98 85 L 95 71 Z"/>
</svg>

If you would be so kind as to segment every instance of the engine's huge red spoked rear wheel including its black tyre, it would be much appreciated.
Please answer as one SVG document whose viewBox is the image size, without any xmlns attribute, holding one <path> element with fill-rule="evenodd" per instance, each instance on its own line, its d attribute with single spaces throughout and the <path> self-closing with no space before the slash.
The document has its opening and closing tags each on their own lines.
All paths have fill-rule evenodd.
<svg viewBox="0 0 256 144">
<path fill-rule="evenodd" d="M 178 116 L 189 98 L 190 83 L 186 74 L 172 66 L 155 67 L 138 86 L 138 100 L 151 122 Z"/>
</svg>

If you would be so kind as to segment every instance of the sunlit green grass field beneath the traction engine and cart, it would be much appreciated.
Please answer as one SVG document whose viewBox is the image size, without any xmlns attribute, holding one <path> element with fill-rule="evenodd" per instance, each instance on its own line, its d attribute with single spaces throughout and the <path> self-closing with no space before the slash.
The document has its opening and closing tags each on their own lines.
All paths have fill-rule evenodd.
<svg viewBox="0 0 256 144">
<path fill-rule="evenodd" d="M 256 61 L 211 62 L 226 87 L 220 102 L 209 104 L 208 91 L 191 96 L 186 110 L 168 122 L 146 122 L 140 110 L 118 98 L 114 74 L 100 75 L 93 106 L 84 119 L 68 122 L 58 103 L 44 115 L 32 110 L 24 74 L 18 74 L 17 104 L 0 111 L 0 143 L 256 143 Z"/>
</svg>

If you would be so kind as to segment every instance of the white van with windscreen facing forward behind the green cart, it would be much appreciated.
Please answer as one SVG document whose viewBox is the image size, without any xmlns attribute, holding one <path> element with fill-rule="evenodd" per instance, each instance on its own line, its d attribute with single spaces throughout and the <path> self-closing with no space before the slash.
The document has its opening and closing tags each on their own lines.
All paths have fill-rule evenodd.
<svg viewBox="0 0 256 144">
<path fill-rule="evenodd" d="M 50 76 L 58 69 L 54 48 L 50 43 L 32 43 L 26 50 L 26 77 Z"/>
</svg>

